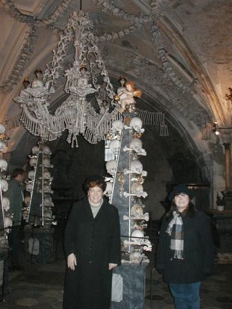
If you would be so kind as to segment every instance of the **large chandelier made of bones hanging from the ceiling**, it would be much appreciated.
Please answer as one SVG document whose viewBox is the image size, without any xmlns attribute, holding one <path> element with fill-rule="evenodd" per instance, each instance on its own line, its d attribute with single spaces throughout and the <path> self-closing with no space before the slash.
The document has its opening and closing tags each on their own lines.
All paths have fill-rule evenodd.
<svg viewBox="0 0 232 309">
<path fill-rule="evenodd" d="M 74 61 L 65 70 L 64 59 L 71 42 L 75 50 Z M 51 114 L 51 95 L 62 81 L 61 72 L 66 77 L 64 92 L 68 98 Z M 25 86 L 14 99 L 23 110 L 21 122 L 31 134 L 52 141 L 67 129 L 68 143 L 78 147 L 79 134 L 83 134 L 89 143 L 97 143 L 104 139 L 111 123 L 121 119 L 119 107 L 113 104 L 113 86 L 97 48 L 88 14 L 82 11 L 71 14 L 53 51 L 52 61 L 47 64 L 43 76 L 39 70 L 36 76 L 31 87 Z"/>
</svg>

